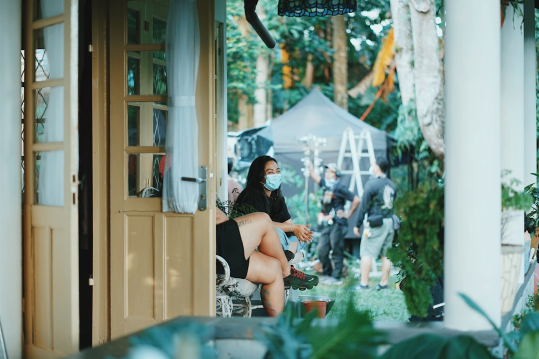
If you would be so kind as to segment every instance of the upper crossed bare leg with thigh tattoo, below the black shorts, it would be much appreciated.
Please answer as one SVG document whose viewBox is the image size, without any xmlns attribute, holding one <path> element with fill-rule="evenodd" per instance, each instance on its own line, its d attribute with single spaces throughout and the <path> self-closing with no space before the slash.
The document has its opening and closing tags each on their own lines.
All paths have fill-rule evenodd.
<svg viewBox="0 0 539 359">
<path fill-rule="evenodd" d="M 238 222 L 245 258 L 249 258 L 258 247 L 261 253 L 279 261 L 283 277 L 289 276 L 290 265 L 286 260 L 285 251 L 281 247 L 279 235 L 275 227 L 273 227 L 273 222 L 269 216 L 266 213 L 251 213 L 237 217 L 234 221 Z"/>
</svg>

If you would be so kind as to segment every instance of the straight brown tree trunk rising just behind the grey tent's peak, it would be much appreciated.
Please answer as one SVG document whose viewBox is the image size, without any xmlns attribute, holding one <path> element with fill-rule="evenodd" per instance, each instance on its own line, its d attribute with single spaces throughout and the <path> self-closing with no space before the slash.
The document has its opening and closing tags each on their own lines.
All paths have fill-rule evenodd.
<svg viewBox="0 0 539 359">
<path fill-rule="evenodd" d="M 333 23 L 333 90 L 334 101 L 348 111 L 348 53 L 344 15 L 331 18 Z"/>
</svg>

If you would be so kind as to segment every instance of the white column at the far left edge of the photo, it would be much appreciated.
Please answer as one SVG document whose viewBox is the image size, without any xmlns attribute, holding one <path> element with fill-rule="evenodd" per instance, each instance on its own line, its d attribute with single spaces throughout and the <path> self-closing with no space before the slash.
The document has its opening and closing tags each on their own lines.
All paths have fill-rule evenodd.
<svg viewBox="0 0 539 359">
<path fill-rule="evenodd" d="M 22 357 L 20 0 L 0 0 L 0 321 L 10 358 Z"/>
</svg>

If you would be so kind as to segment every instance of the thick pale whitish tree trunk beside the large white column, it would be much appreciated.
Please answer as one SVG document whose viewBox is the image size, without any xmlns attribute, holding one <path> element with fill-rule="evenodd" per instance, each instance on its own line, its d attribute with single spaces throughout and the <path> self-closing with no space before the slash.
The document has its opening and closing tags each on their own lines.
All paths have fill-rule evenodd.
<svg viewBox="0 0 539 359">
<path fill-rule="evenodd" d="M 443 158 L 444 81 L 433 0 L 390 0 L 395 62 L 405 108 L 415 107 L 419 128 L 430 149 Z M 404 111 L 406 121 L 410 111 Z"/>
</svg>

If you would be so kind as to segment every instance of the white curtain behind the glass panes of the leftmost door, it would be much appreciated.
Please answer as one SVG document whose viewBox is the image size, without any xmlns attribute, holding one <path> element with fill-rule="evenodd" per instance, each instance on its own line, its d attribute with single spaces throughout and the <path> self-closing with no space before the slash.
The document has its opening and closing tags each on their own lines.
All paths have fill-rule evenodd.
<svg viewBox="0 0 539 359">
<path fill-rule="evenodd" d="M 41 0 L 43 18 L 64 12 L 64 2 Z M 64 77 L 64 24 L 43 29 L 45 38 L 45 64 L 49 67 L 49 79 Z M 36 79 L 38 80 L 38 79 Z M 43 89 L 49 92 L 42 142 L 62 142 L 64 140 L 64 87 Z M 38 204 L 47 206 L 64 205 L 64 151 L 41 152 L 38 179 Z"/>
</svg>

